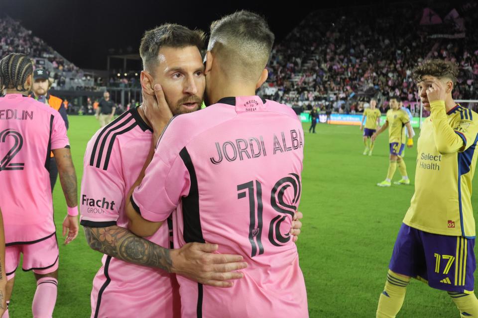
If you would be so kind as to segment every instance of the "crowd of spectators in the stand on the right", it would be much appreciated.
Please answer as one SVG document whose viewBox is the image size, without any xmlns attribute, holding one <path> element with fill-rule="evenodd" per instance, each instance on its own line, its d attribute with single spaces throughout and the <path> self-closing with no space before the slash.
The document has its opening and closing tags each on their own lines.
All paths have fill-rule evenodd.
<svg viewBox="0 0 478 318">
<path fill-rule="evenodd" d="M 446 14 L 453 5 L 463 18 L 464 38 L 453 38 L 458 32 L 454 20 L 421 25 L 425 8 L 419 4 L 312 12 L 274 47 L 261 94 L 294 108 L 318 105 L 352 113 L 360 111 L 361 100 L 376 96 L 386 109 L 390 95 L 417 101 L 413 68 L 426 58 L 444 58 L 459 65 L 454 97 L 477 99 L 477 2 L 440 9 Z M 443 32 L 445 36 L 433 36 Z"/>
</svg>

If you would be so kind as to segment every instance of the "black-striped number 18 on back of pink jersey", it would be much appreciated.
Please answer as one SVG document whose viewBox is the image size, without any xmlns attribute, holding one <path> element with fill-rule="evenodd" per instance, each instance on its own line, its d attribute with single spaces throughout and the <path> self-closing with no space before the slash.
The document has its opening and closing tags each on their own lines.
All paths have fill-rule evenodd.
<svg viewBox="0 0 478 318">
<path fill-rule="evenodd" d="M 284 192 L 287 188 L 294 190 L 292 205 L 285 203 Z M 262 186 L 259 181 L 249 181 L 238 185 L 238 199 L 249 197 L 249 242 L 251 244 L 251 257 L 264 253 L 262 246 Z M 287 219 L 287 215 L 294 217 L 297 203 L 300 199 L 301 183 L 299 175 L 290 173 L 277 181 L 270 193 L 270 204 L 280 214 L 270 221 L 269 241 L 275 246 L 282 246 L 290 240 L 290 233 L 282 235 L 280 225 Z M 257 204 L 257 207 L 256 207 Z"/>
</svg>

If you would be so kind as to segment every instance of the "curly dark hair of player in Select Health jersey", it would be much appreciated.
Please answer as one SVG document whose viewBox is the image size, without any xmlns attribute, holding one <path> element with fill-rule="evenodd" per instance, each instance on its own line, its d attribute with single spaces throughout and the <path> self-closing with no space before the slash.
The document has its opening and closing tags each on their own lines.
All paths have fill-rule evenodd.
<svg viewBox="0 0 478 318">
<path fill-rule="evenodd" d="M 455 62 L 440 59 L 431 59 L 423 62 L 413 69 L 412 77 L 416 82 L 421 82 L 424 76 L 436 78 L 449 78 L 455 86 L 458 77 L 458 65 Z"/>
</svg>

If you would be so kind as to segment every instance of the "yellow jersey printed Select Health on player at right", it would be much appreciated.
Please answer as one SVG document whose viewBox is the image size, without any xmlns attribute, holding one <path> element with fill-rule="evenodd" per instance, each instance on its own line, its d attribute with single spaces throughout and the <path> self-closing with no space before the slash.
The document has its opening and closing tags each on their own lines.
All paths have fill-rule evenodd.
<svg viewBox="0 0 478 318">
<path fill-rule="evenodd" d="M 478 157 L 478 114 L 431 103 L 418 138 L 415 193 L 403 222 L 429 233 L 475 237 L 472 179 Z"/>
</svg>

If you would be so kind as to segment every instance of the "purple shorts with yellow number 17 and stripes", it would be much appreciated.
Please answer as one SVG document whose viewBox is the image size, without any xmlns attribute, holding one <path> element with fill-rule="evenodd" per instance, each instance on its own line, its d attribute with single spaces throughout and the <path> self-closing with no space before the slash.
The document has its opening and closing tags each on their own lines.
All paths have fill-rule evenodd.
<svg viewBox="0 0 478 318">
<path fill-rule="evenodd" d="M 389 268 L 449 292 L 473 292 L 475 239 L 423 232 L 402 224 Z"/>
</svg>

